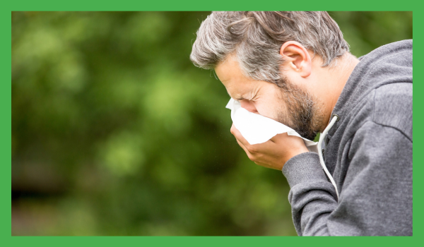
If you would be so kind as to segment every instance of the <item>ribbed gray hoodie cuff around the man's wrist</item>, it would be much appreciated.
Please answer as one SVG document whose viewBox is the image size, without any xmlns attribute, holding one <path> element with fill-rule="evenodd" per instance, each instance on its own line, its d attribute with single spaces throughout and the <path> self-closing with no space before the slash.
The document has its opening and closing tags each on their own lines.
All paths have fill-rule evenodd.
<svg viewBox="0 0 424 247">
<path fill-rule="evenodd" d="M 298 183 L 327 181 L 316 152 L 303 152 L 285 162 L 283 174 L 290 188 Z"/>
</svg>

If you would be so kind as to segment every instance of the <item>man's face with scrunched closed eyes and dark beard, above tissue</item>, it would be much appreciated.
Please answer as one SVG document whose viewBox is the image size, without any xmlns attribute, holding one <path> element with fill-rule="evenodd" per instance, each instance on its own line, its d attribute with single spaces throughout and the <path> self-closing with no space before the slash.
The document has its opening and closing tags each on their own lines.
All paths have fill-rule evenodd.
<svg viewBox="0 0 424 247">
<path fill-rule="evenodd" d="M 287 79 L 274 83 L 252 80 L 242 74 L 237 61 L 228 58 L 215 68 L 230 97 L 249 112 L 266 116 L 293 128 L 302 137 L 314 140 L 322 114 L 312 96 Z"/>
</svg>

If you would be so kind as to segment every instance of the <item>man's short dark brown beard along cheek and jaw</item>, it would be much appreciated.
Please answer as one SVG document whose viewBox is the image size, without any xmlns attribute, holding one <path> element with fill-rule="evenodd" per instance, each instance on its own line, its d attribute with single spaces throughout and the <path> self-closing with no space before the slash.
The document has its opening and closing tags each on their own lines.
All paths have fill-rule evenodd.
<svg viewBox="0 0 424 247">
<path fill-rule="evenodd" d="M 303 138 L 314 140 L 324 119 L 322 110 L 317 107 L 317 100 L 306 90 L 288 82 L 286 78 L 278 81 L 276 85 L 281 90 L 279 97 L 285 105 L 285 111 L 281 108 L 278 111 L 277 121 L 293 128 Z"/>
</svg>

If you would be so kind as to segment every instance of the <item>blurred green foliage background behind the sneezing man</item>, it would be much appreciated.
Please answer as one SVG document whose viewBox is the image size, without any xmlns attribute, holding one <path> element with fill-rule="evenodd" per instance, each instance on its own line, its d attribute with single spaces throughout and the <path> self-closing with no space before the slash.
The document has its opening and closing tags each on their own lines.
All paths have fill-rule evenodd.
<svg viewBox="0 0 424 247">
<path fill-rule="evenodd" d="M 189 61 L 208 14 L 12 13 L 12 235 L 296 235 Z M 412 12 L 330 15 L 355 56 L 412 38 Z"/>
</svg>

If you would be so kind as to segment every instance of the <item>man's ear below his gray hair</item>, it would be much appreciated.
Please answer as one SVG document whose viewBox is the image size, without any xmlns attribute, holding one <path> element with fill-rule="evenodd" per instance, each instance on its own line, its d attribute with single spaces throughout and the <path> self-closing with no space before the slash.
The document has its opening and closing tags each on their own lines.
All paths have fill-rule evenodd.
<svg viewBox="0 0 424 247">
<path fill-rule="evenodd" d="M 285 68 L 292 69 L 306 78 L 312 73 L 312 59 L 307 49 L 299 42 L 285 42 L 280 49 Z"/>
</svg>

